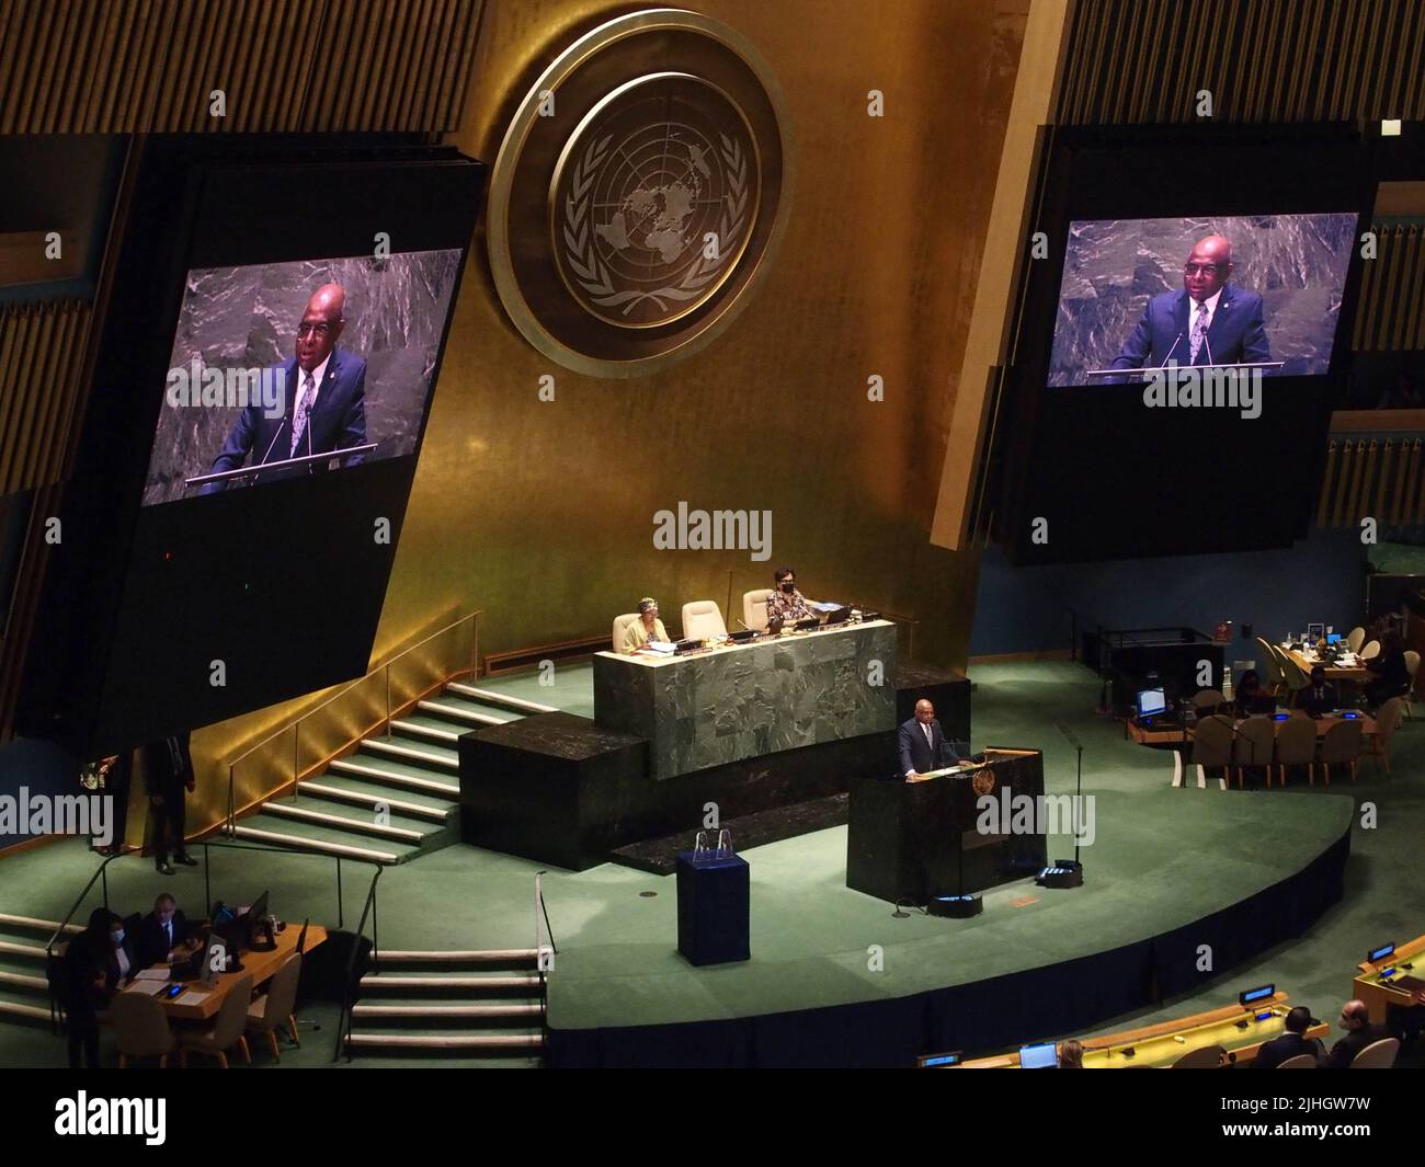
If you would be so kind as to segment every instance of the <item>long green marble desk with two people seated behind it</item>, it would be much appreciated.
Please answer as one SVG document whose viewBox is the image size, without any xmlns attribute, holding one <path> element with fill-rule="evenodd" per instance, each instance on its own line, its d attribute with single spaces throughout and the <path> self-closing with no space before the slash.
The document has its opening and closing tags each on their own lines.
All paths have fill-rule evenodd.
<svg viewBox="0 0 1425 1167">
<path fill-rule="evenodd" d="M 647 740 L 656 779 L 885 732 L 895 640 L 889 620 L 868 620 L 681 657 L 597 653 L 594 724 Z"/>
</svg>

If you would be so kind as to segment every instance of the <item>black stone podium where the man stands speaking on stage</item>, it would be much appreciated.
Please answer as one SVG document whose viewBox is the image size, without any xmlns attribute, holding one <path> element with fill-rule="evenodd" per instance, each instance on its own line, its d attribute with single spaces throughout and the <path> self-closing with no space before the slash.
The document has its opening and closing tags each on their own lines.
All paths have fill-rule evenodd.
<svg viewBox="0 0 1425 1167">
<path fill-rule="evenodd" d="M 978 892 L 1043 868 L 1045 755 L 986 750 L 985 758 L 980 767 L 949 767 L 916 782 L 854 782 L 846 886 L 876 899 L 928 903 L 931 896 Z M 996 801 L 989 824 L 996 829 L 982 832 L 980 799 L 986 797 Z M 1029 831 L 1022 829 L 1025 797 L 1033 806 Z"/>
</svg>

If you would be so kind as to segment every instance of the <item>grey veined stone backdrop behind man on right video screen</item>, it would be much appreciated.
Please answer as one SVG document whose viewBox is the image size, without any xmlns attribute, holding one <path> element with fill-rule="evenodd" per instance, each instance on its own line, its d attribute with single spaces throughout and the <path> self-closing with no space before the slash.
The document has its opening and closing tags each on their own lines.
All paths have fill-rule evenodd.
<svg viewBox="0 0 1425 1167">
<path fill-rule="evenodd" d="M 1278 376 L 1325 373 L 1355 244 L 1355 214 L 1104 219 L 1069 228 L 1050 385 L 1084 385 L 1107 369 L 1160 292 L 1183 288 L 1183 264 L 1204 235 L 1233 245 L 1230 282 L 1263 298 Z"/>
</svg>

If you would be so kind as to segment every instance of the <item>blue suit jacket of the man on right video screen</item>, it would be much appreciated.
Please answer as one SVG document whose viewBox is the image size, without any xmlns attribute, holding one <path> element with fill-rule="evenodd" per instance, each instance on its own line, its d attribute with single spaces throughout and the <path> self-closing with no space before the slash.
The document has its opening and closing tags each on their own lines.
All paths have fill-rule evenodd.
<svg viewBox="0 0 1425 1167">
<path fill-rule="evenodd" d="M 1186 291 L 1163 292 L 1149 301 L 1137 328 L 1113 359 L 1114 369 L 1161 368 L 1173 355 L 1176 365 L 1243 365 L 1271 361 L 1267 329 L 1263 326 L 1261 296 L 1223 286 L 1223 295 L 1207 326 L 1207 343 L 1190 361 L 1191 296 Z M 1211 358 L 1208 358 L 1211 352 Z"/>
</svg>

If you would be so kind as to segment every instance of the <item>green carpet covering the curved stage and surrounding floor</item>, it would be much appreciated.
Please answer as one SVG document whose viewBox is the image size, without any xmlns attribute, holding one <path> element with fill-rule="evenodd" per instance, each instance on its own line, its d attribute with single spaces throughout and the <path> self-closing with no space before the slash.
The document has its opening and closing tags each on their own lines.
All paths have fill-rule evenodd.
<svg viewBox="0 0 1425 1167">
<path fill-rule="evenodd" d="M 559 943 L 550 980 L 550 1023 L 557 1027 L 650 1025 L 807 1009 L 915 993 L 1124 943 L 1190 922 L 1268 886 L 1322 851 L 1371 799 L 1379 825 L 1352 835 L 1347 899 L 1308 936 L 1253 966 L 1220 977 L 1187 999 L 1106 1022 L 1100 1032 L 1140 1020 L 1180 1016 L 1234 999 L 1240 986 L 1274 980 L 1294 999 L 1331 1016 L 1351 989 L 1367 948 L 1425 932 L 1415 892 L 1418 841 L 1425 828 L 1419 741 L 1406 722 L 1395 738 L 1395 774 L 1362 765 L 1361 785 L 1330 792 L 1302 779 L 1285 791 L 1223 794 L 1216 784 L 1171 789 L 1171 755 L 1134 745 L 1117 722 L 1093 714 L 1097 681 L 1080 665 L 999 664 L 973 671 L 973 745 L 1027 745 L 1045 751 L 1050 794 L 1073 789 L 1074 754 L 1053 730 L 1062 721 L 1083 741 L 1084 791 L 1097 797 L 1096 841 L 1083 858 L 1077 891 L 1015 883 L 986 895 L 983 916 L 892 919 L 891 906 L 844 885 L 845 828 L 747 852 L 752 866 L 752 960 L 694 969 L 675 952 L 671 878 L 606 865 L 587 872 L 551 871 L 546 901 Z M 587 665 L 561 665 L 556 685 L 532 674 L 482 681 L 483 687 L 587 712 Z M 551 697 L 557 694 L 556 697 Z M 583 702 L 583 704 L 581 704 Z M 1050 852 L 1064 845 L 1050 841 Z M 0 911 L 63 916 L 94 866 L 77 841 L 3 861 Z M 335 923 L 335 863 L 298 855 L 219 852 L 214 895 L 242 902 L 264 888 L 288 919 Z M 369 868 L 343 863 L 346 926 L 355 925 Z M 380 876 L 380 942 L 388 948 L 520 948 L 534 940 L 536 863 L 456 845 L 389 868 Z M 110 865 L 111 902 L 145 908 L 160 889 L 201 911 L 202 869 L 158 876 L 148 862 Z M 654 892 L 644 896 L 643 892 Z M 1037 896 L 1026 906 L 1012 901 Z M 84 911 L 93 906 L 91 901 Z M 884 950 L 882 970 L 868 949 Z M 323 1029 L 304 1034 L 302 1050 L 281 1064 L 325 1064 L 335 1039 L 335 1007 L 304 1016 Z M 1053 1037 L 1060 1034 L 1043 1034 Z M 47 1030 L 0 1023 L 0 1066 L 63 1064 L 64 1046 Z M 358 1059 L 372 1066 L 507 1064 L 504 1062 Z"/>
</svg>

